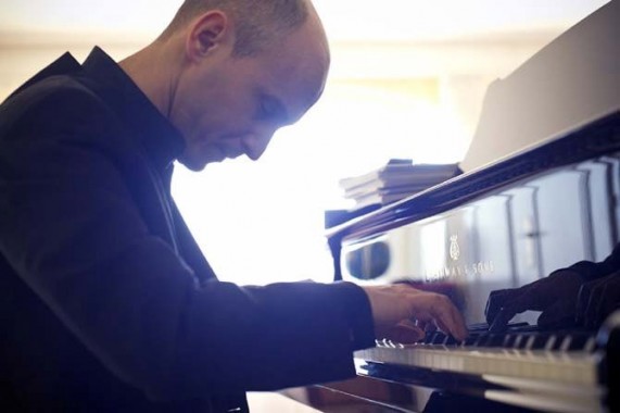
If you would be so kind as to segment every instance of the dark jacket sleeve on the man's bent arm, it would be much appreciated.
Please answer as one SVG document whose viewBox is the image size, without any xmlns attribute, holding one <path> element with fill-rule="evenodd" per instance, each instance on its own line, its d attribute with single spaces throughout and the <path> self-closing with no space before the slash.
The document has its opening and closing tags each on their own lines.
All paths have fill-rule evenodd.
<svg viewBox="0 0 620 413">
<path fill-rule="evenodd" d="M 0 252 L 106 368 L 154 400 L 354 374 L 352 351 L 374 345 L 360 288 L 200 285 L 142 221 L 115 116 L 56 95 L 0 125 Z"/>
</svg>

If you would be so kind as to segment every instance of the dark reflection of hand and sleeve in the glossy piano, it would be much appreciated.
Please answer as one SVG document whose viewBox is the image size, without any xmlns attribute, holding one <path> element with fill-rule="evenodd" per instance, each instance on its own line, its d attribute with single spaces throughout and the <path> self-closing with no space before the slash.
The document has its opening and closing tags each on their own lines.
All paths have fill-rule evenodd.
<svg viewBox="0 0 620 413">
<path fill-rule="evenodd" d="M 620 245 L 604 262 L 582 261 L 520 288 L 492 291 L 485 315 L 492 331 L 529 310 L 542 311 L 537 324 L 543 328 L 596 329 L 619 308 Z"/>
</svg>

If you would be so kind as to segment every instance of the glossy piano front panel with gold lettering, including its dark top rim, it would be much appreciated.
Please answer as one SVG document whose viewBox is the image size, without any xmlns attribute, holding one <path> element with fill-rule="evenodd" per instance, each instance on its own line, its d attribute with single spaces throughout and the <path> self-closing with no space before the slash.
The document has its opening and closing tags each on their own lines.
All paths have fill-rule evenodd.
<svg viewBox="0 0 620 413">
<path fill-rule="evenodd" d="M 338 275 L 434 289 L 476 324 L 492 290 L 603 261 L 619 241 L 619 124 L 613 113 L 332 228 Z"/>
</svg>

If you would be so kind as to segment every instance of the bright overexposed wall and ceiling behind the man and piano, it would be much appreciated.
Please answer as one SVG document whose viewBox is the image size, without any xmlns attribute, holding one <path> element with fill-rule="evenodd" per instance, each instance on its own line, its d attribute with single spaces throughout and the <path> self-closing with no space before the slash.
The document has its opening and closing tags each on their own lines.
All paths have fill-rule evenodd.
<svg viewBox="0 0 620 413">
<path fill-rule="evenodd" d="M 332 49 L 321 101 L 257 163 L 175 174 L 177 203 L 216 272 L 239 284 L 330 280 L 322 214 L 347 205 L 338 180 L 390 158 L 458 161 L 486 85 L 606 2 L 315 0 Z M 0 99 L 67 50 L 127 57 L 180 3 L 1 2 Z"/>
</svg>

